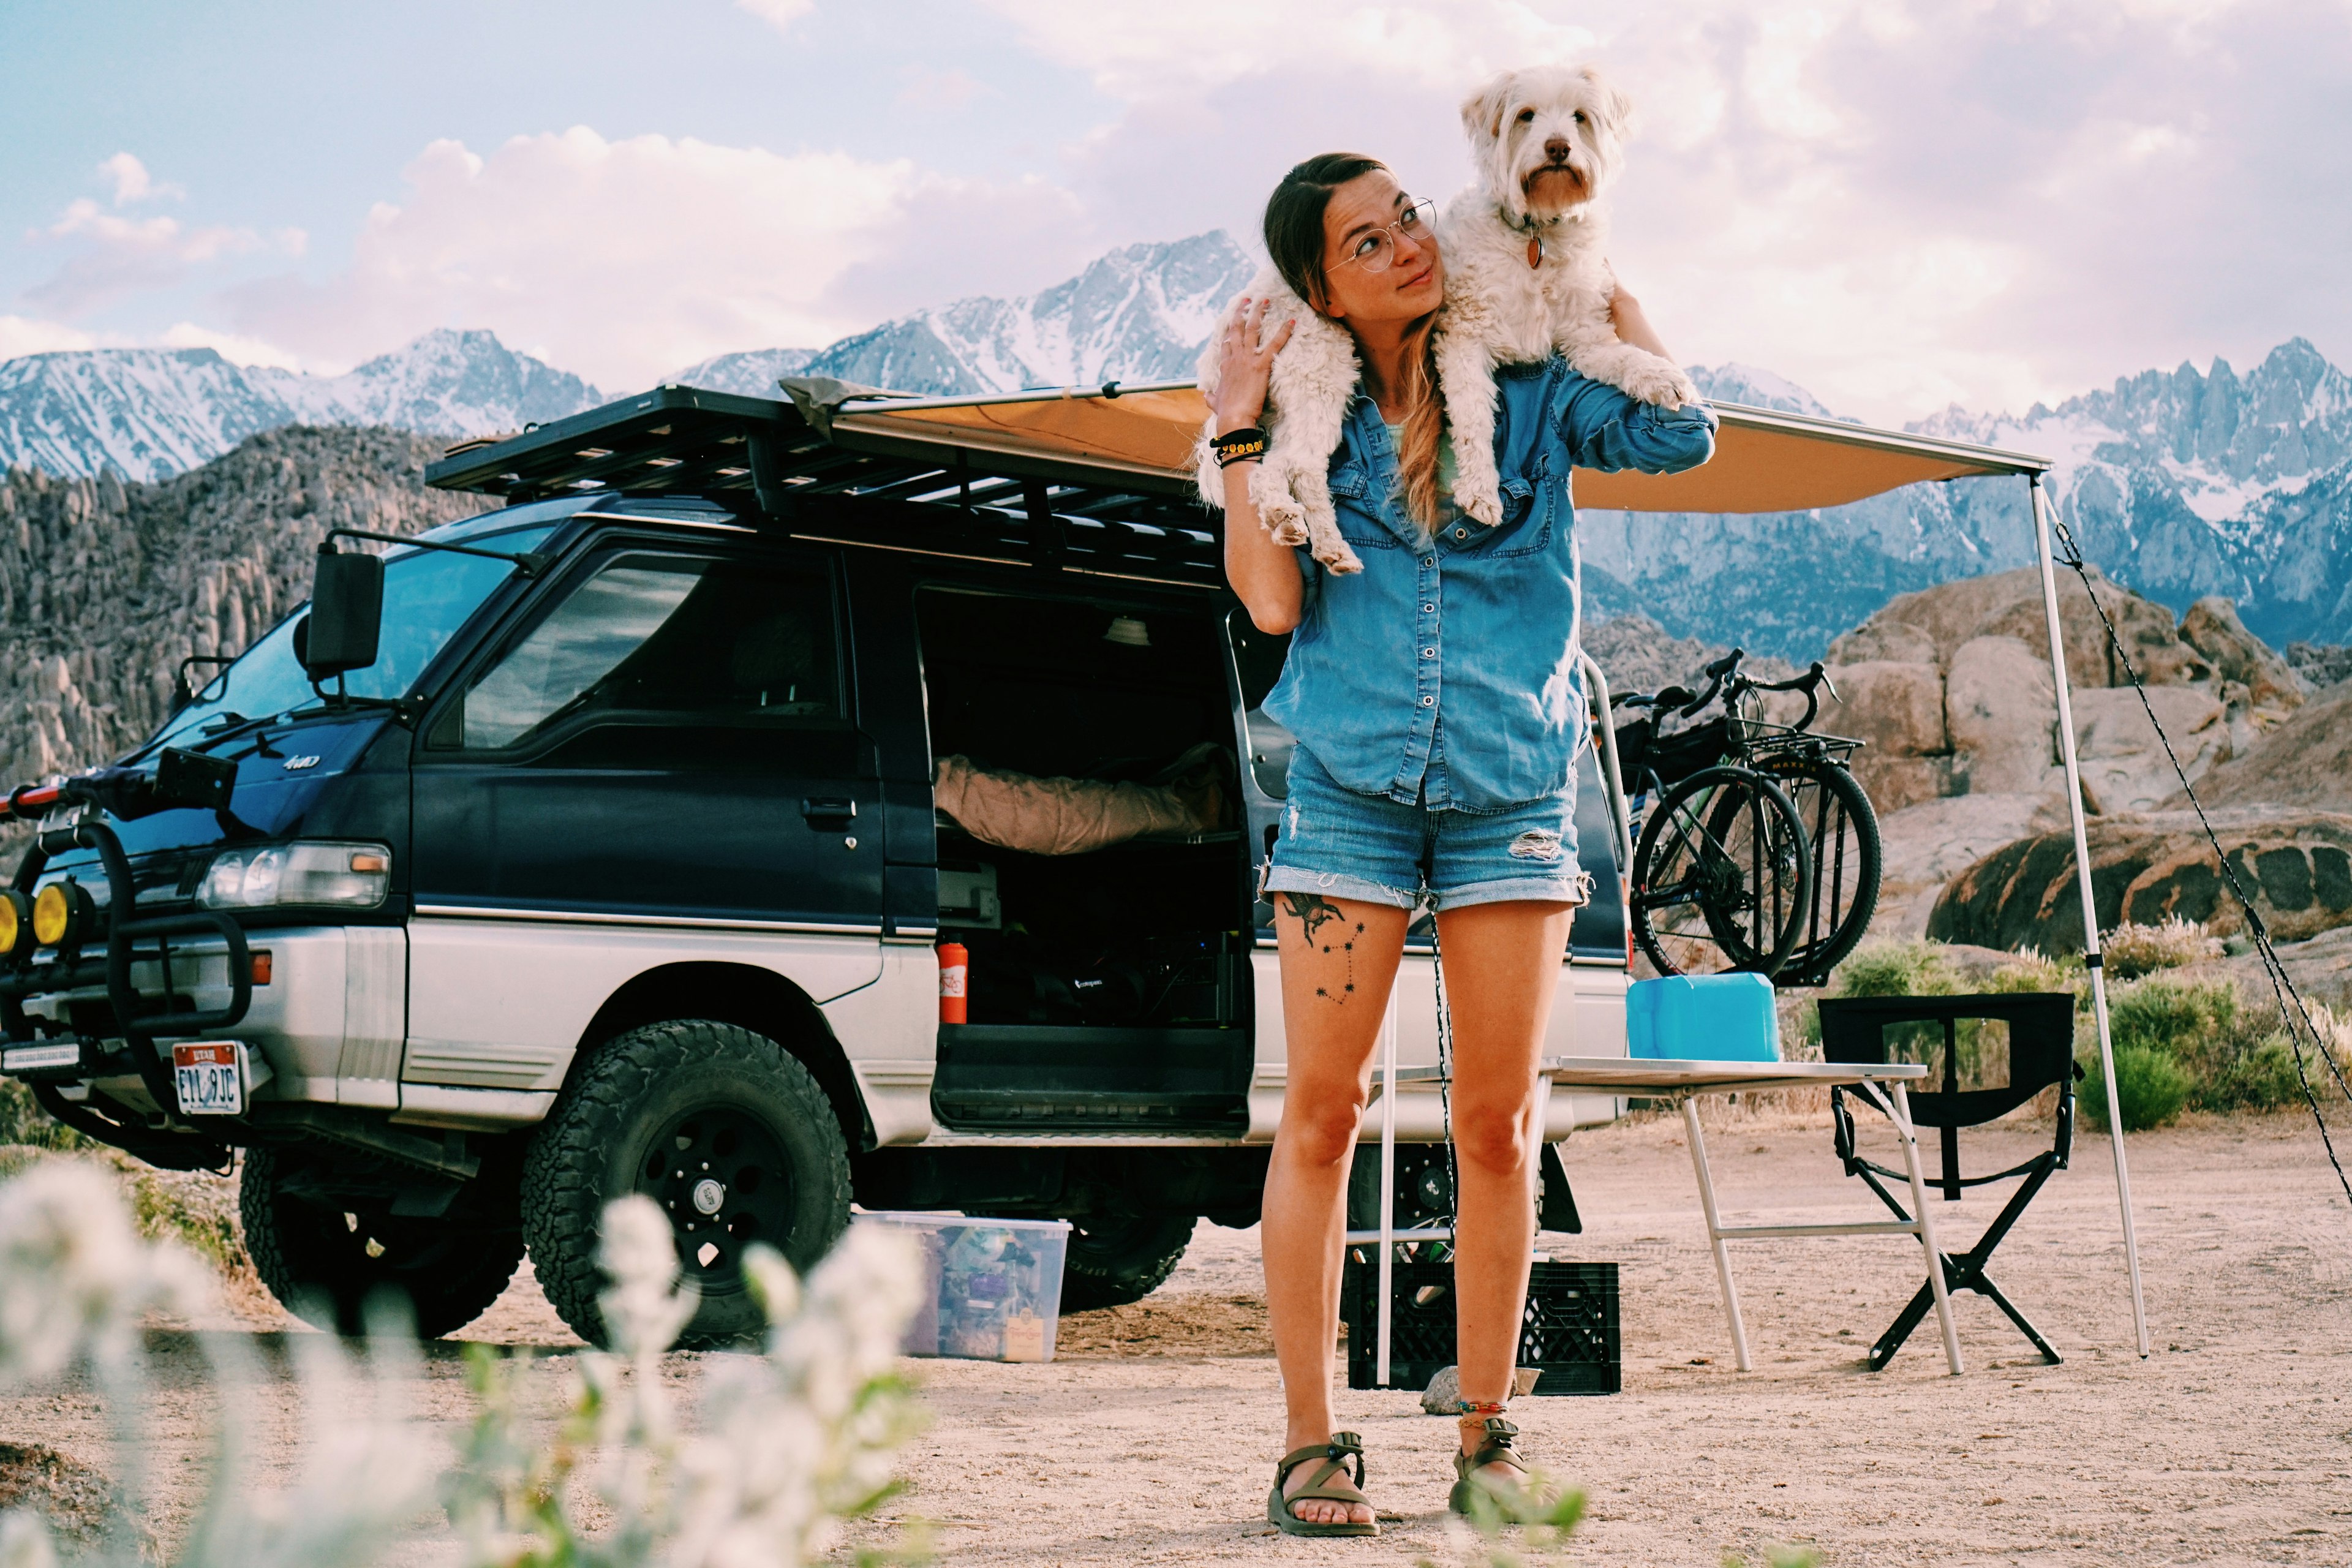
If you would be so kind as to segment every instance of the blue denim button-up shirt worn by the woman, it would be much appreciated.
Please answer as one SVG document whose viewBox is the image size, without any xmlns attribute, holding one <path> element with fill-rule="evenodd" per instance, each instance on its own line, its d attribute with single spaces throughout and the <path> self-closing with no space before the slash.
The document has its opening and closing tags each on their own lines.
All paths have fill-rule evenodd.
<svg viewBox="0 0 2352 1568">
<path fill-rule="evenodd" d="M 1635 402 L 1559 357 L 1498 369 L 1496 390 L 1503 522 L 1449 515 L 1435 536 L 1404 510 L 1378 407 L 1357 390 L 1348 409 L 1331 501 L 1364 569 L 1298 552 L 1303 618 L 1265 698 L 1348 790 L 1489 813 L 1566 790 L 1588 729 L 1569 470 L 1715 454 L 1712 409 Z"/>
</svg>

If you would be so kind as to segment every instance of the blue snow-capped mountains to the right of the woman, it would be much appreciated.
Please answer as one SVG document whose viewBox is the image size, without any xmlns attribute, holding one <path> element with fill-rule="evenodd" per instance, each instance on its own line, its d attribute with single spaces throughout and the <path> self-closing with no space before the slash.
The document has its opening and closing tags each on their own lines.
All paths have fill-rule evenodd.
<svg viewBox="0 0 2352 1568">
<path fill-rule="evenodd" d="M 1820 411 L 1745 367 L 1693 378 L 1724 402 Z M 2056 409 L 1912 428 L 2056 458 L 2051 496 L 2084 555 L 2176 611 L 2218 592 L 2272 644 L 2352 639 L 2352 376 L 2303 339 L 2246 376 L 2183 364 Z M 2025 487 L 1983 480 L 1820 515 L 1581 517 L 1595 611 L 1799 661 L 1898 592 L 2027 564 L 2030 529 Z"/>
</svg>

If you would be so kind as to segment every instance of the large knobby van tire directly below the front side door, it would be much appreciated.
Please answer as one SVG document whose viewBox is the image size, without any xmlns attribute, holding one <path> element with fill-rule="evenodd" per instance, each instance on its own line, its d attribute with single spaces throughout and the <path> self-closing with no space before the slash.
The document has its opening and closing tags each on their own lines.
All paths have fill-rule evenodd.
<svg viewBox="0 0 2352 1568">
<path fill-rule="evenodd" d="M 706 1180 L 720 1182 L 715 1213 L 696 1208 Z M 680 1267 L 701 1288 L 677 1342 L 734 1345 L 767 1326 L 743 1246 L 816 1267 L 849 1227 L 849 1145 L 816 1077 L 774 1039 L 708 1018 L 649 1023 L 595 1046 L 522 1159 L 539 1288 L 590 1345 L 607 1342 L 597 1229 L 604 1204 L 630 1192 L 670 1213 Z"/>
</svg>

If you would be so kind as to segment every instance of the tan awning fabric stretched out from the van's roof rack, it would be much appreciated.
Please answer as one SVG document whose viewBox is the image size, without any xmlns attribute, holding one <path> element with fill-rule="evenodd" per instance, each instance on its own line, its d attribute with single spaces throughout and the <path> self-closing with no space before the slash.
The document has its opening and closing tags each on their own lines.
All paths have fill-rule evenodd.
<svg viewBox="0 0 2352 1568">
<path fill-rule="evenodd" d="M 1098 388 L 995 397 L 906 397 L 844 404 L 833 421 L 844 447 L 920 456 L 988 451 L 1035 463 L 1042 477 L 1127 477 L 1148 489 L 1190 489 L 1192 442 L 1207 404 L 1190 383 L 1103 397 Z M 1682 475 L 1576 473 L 1576 503 L 1625 512 L 1804 512 L 1924 480 L 2027 475 L 2046 458 L 1846 425 L 1773 409 L 1717 404 L 1715 461 Z"/>
</svg>

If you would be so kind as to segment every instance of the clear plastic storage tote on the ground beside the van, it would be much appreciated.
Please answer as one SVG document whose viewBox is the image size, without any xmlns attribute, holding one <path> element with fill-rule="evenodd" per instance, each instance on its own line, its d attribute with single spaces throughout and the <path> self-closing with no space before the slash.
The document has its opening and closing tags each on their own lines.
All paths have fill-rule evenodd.
<svg viewBox="0 0 2352 1568">
<path fill-rule="evenodd" d="M 1068 1220 L 976 1220 L 960 1213 L 866 1213 L 922 1246 L 924 1293 L 906 1354 L 964 1361 L 1051 1361 L 1061 1324 Z"/>
</svg>

